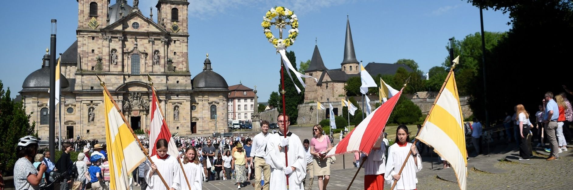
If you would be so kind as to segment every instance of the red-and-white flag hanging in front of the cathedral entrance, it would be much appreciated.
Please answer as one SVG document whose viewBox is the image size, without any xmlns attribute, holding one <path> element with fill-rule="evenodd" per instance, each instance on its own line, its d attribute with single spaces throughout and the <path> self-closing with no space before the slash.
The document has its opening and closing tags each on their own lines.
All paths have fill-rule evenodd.
<svg viewBox="0 0 573 190">
<path fill-rule="evenodd" d="M 159 101 L 155 95 L 155 88 L 152 88 L 153 93 L 153 103 L 151 104 L 151 125 L 149 132 L 149 150 L 151 152 L 150 156 L 157 155 L 157 148 L 155 144 L 159 139 L 165 139 L 168 142 L 167 154 L 171 156 L 179 156 L 179 151 L 177 145 L 175 145 L 175 140 L 171 137 L 171 132 L 169 132 L 169 127 L 163 118 L 163 114 L 159 110 Z"/>
</svg>

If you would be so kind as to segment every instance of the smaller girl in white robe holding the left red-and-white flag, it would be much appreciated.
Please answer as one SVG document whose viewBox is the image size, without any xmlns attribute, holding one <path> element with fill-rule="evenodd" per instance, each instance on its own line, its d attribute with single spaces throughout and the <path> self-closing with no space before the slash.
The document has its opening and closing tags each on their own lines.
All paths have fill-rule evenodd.
<svg viewBox="0 0 573 190">
<path fill-rule="evenodd" d="M 203 167 L 199 165 L 199 158 L 196 152 L 197 150 L 193 146 L 185 149 L 185 157 L 183 157 L 183 172 L 185 172 L 185 175 L 179 175 L 181 177 L 181 190 L 190 190 L 189 185 L 193 190 L 202 189 Z M 185 180 L 185 176 L 187 176 L 187 180 Z M 187 185 L 187 181 L 189 181 L 189 185 Z"/>
</svg>

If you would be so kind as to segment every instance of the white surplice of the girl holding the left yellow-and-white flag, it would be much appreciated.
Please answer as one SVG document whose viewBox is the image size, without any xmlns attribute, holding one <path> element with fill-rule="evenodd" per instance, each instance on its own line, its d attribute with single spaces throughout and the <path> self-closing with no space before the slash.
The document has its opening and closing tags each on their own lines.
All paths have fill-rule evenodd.
<svg viewBox="0 0 573 190">
<path fill-rule="evenodd" d="M 161 173 L 163 179 L 170 188 L 181 190 L 180 181 L 181 167 L 175 156 L 168 155 L 167 159 L 159 159 L 158 155 L 151 156 L 151 160 L 157 165 L 157 171 Z M 147 190 L 167 190 L 157 172 L 150 177 L 151 165 L 146 164 L 145 180 L 147 181 Z"/>
</svg>

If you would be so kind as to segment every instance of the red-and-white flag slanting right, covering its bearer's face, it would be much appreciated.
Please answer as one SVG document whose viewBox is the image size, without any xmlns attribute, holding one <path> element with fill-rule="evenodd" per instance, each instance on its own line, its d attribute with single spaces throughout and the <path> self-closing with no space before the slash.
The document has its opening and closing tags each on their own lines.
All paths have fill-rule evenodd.
<svg viewBox="0 0 573 190">
<path fill-rule="evenodd" d="M 360 152 L 368 155 L 378 138 L 382 135 L 386 122 L 388 122 L 396 102 L 402 95 L 402 90 L 364 118 L 348 136 L 344 137 L 342 141 L 328 152 L 327 157 L 351 152 Z"/>
</svg>

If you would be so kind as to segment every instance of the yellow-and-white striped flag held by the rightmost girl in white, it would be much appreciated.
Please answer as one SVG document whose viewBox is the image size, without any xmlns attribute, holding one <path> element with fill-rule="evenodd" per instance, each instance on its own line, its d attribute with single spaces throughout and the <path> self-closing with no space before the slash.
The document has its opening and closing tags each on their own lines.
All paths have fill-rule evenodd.
<svg viewBox="0 0 573 190">
<path fill-rule="evenodd" d="M 454 72 L 450 71 L 417 139 L 434 147 L 439 156 L 452 164 L 458 185 L 465 190 L 468 163 L 463 119 L 456 78 Z"/>
</svg>

